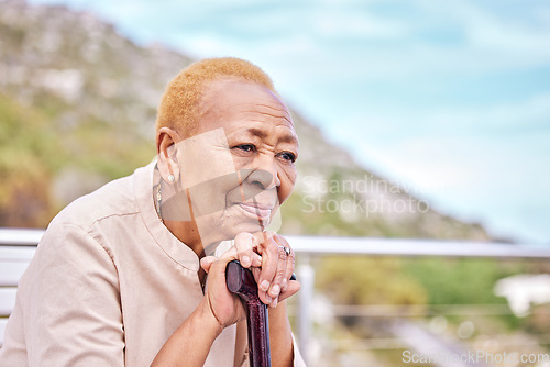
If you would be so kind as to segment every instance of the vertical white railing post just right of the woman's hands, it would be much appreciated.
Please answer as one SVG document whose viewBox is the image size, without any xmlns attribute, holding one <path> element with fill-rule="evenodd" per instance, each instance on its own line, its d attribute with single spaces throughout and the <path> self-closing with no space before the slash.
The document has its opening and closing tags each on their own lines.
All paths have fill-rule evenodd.
<svg viewBox="0 0 550 367">
<path fill-rule="evenodd" d="M 298 263 L 298 280 L 301 285 L 298 292 L 298 342 L 306 364 L 309 363 L 312 325 L 311 307 L 315 286 L 315 270 L 309 260 L 309 254 L 304 254 L 300 255 Z"/>
</svg>

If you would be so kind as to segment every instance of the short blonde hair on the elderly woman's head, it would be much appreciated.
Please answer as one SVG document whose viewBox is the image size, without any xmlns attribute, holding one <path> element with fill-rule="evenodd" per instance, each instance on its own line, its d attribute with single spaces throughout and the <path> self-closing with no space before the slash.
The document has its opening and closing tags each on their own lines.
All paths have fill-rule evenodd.
<svg viewBox="0 0 550 367">
<path fill-rule="evenodd" d="M 189 65 L 168 84 L 158 107 L 156 131 L 166 126 L 184 136 L 191 134 L 198 124 L 205 87 L 223 78 L 256 82 L 277 93 L 270 76 L 250 62 L 235 57 L 204 59 Z"/>
</svg>

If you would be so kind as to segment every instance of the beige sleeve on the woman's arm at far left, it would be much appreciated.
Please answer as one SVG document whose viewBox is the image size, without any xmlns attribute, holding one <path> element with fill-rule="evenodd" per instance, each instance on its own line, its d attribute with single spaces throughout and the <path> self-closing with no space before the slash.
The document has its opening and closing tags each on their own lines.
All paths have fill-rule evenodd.
<svg viewBox="0 0 550 367">
<path fill-rule="evenodd" d="M 117 269 L 87 232 L 48 229 L 24 281 L 30 366 L 124 365 Z"/>
</svg>

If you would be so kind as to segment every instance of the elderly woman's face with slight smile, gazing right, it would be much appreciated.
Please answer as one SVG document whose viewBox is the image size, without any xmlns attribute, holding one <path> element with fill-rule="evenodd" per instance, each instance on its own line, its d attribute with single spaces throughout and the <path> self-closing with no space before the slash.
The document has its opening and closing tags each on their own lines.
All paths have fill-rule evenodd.
<svg viewBox="0 0 550 367">
<path fill-rule="evenodd" d="M 219 80 L 206 89 L 201 111 L 177 159 L 202 243 L 263 231 L 296 181 L 288 109 L 261 85 Z"/>
</svg>

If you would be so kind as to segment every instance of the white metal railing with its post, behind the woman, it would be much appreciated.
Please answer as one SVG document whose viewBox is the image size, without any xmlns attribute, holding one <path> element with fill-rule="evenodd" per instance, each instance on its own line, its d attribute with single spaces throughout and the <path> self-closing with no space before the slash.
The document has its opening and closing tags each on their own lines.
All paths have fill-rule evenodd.
<svg viewBox="0 0 550 367">
<path fill-rule="evenodd" d="M 43 230 L 0 229 L 0 245 L 35 246 Z M 316 256 L 362 255 L 397 257 L 470 257 L 499 259 L 550 259 L 550 246 L 506 243 L 436 241 L 410 238 L 317 237 L 286 236 L 298 260 L 297 276 L 301 283 L 298 293 L 298 342 L 306 362 L 311 340 L 311 300 L 315 269 L 310 259 Z"/>
</svg>

